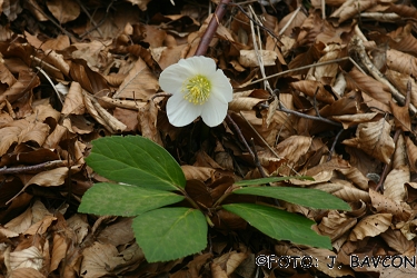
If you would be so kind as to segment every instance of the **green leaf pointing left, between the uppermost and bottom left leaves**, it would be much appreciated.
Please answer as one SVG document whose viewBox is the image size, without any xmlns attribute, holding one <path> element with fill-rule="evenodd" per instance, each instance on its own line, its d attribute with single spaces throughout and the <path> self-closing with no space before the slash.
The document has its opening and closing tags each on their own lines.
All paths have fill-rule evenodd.
<svg viewBox="0 0 417 278">
<path fill-rule="evenodd" d="M 137 216 L 183 198 L 162 190 L 101 182 L 87 190 L 78 211 L 100 216 Z"/>
</svg>

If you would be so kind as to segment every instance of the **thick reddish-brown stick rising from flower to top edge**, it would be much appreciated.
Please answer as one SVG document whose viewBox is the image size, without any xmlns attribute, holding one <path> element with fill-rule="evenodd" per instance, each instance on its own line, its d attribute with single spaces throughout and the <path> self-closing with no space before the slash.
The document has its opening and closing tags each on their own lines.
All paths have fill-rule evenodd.
<svg viewBox="0 0 417 278">
<path fill-rule="evenodd" d="M 226 8 L 230 0 L 221 0 L 221 2 L 217 6 L 215 14 L 212 14 L 206 32 L 201 37 L 195 56 L 205 56 L 207 53 L 208 46 L 210 44 L 211 39 L 215 36 L 220 20 L 225 17 Z"/>
</svg>

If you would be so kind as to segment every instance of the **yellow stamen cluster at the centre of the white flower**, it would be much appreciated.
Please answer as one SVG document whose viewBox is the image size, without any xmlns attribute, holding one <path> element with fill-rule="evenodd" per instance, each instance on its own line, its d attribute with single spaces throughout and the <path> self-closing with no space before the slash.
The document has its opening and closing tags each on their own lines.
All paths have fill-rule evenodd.
<svg viewBox="0 0 417 278">
<path fill-rule="evenodd" d="M 202 105 L 210 96 L 211 83 L 203 76 L 195 76 L 185 81 L 182 86 L 183 98 L 195 105 Z"/>
</svg>

